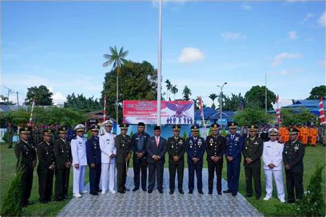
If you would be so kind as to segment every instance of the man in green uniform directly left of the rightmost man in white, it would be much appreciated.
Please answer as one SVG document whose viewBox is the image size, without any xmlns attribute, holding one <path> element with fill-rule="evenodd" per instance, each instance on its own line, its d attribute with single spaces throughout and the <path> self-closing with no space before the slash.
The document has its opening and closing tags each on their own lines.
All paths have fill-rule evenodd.
<svg viewBox="0 0 326 217">
<path fill-rule="evenodd" d="M 261 197 L 261 155 L 263 155 L 263 139 L 258 137 L 258 126 L 249 127 L 249 137 L 243 141 L 243 165 L 246 175 L 246 196 L 252 196 L 252 178 L 256 199 Z"/>
</svg>

